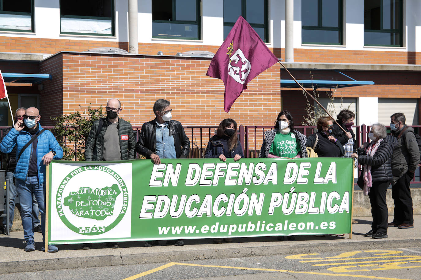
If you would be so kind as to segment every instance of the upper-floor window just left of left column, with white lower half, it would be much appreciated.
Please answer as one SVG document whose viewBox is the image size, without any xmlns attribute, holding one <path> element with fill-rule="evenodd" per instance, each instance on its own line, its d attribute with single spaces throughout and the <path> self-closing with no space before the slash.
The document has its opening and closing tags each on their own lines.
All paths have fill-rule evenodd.
<svg viewBox="0 0 421 280">
<path fill-rule="evenodd" d="M 114 36 L 114 1 L 60 0 L 60 32 Z"/>
</svg>

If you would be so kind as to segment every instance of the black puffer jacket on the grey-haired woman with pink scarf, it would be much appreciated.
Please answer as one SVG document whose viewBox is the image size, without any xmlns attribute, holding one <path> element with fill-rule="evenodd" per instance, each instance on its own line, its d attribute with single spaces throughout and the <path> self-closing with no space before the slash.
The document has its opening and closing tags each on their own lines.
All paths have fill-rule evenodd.
<svg viewBox="0 0 421 280">
<path fill-rule="evenodd" d="M 361 165 L 371 165 L 371 178 L 373 182 L 387 182 L 392 180 L 392 154 L 396 144 L 396 137 L 386 136 L 381 141 L 373 157 L 365 155 L 367 148 L 358 148 L 358 162 Z"/>
</svg>

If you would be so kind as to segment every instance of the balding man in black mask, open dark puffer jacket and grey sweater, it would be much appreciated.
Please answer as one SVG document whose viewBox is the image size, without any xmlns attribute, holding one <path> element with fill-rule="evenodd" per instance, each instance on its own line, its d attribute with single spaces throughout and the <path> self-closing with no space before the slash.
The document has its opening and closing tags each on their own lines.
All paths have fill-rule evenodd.
<svg viewBox="0 0 421 280">
<path fill-rule="evenodd" d="M 121 103 L 118 99 L 107 102 L 107 118 L 96 120 L 85 143 L 86 161 L 134 160 L 136 139 L 130 123 L 118 118 Z M 120 248 L 117 242 L 107 246 Z M 91 249 L 92 243 L 83 244 L 82 249 Z"/>
</svg>

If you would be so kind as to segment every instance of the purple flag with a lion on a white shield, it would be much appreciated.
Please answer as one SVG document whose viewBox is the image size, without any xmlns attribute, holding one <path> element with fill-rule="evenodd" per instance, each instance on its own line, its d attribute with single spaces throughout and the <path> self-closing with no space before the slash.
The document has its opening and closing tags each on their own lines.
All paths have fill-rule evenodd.
<svg viewBox="0 0 421 280">
<path fill-rule="evenodd" d="M 207 76 L 224 81 L 224 110 L 231 109 L 247 83 L 278 62 L 253 27 L 240 16 L 210 62 Z"/>
</svg>

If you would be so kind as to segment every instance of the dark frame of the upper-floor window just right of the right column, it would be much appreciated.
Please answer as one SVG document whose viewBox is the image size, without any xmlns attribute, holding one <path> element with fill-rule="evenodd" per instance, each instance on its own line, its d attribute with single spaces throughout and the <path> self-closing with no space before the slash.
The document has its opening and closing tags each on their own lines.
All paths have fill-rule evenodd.
<svg viewBox="0 0 421 280">
<path fill-rule="evenodd" d="M 325 30 L 325 31 L 339 31 L 339 43 L 328 42 L 304 42 L 301 37 L 301 44 L 322 44 L 322 45 L 336 45 L 342 46 L 344 44 L 344 1 L 338 0 L 338 27 L 322 26 L 323 10 L 322 0 L 317 0 L 317 26 L 305 26 L 301 24 L 301 30 Z M 302 7 L 301 7 L 302 11 Z"/>
</svg>

